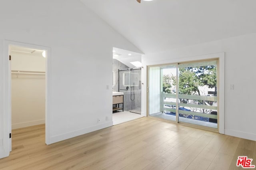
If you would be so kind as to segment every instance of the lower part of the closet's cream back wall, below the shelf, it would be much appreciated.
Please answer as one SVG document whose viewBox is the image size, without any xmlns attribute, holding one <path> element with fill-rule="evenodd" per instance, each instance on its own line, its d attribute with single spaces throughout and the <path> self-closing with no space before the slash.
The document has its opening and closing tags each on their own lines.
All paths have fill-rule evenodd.
<svg viewBox="0 0 256 170">
<path fill-rule="evenodd" d="M 12 74 L 12 129 L 45 123 L 45 75 Z"/>
</svg>

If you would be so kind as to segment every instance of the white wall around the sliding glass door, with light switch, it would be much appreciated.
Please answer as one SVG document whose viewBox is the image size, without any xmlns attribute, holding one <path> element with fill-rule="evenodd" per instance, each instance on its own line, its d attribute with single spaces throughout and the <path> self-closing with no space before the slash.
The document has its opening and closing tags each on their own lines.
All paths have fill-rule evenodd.
<svg viewBox="0 0 256 170">
<path fill-rule="evenodd" d="M 172 63 L 184 57 L 189 60 L 198 55 L 225 52 L 224 133 L 256 140 L 255 44 L 256 33 L 143 55 L 142 63 L 146 68 L 146 65 Z M 146 83 L 146 71 L 143 81 Z M 234 90 L 229 89 L 230 84 L 234 84 Z M 146 114 L 145 86 L 142 90 L 142 109 Z"/>
</svg>

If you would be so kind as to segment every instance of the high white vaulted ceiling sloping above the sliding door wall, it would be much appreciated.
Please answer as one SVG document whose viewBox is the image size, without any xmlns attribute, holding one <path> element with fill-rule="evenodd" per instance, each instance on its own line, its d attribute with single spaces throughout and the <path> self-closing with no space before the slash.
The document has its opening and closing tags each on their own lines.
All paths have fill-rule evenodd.
<svg viewBox="0 0 256 170">
<path fill-rule="evenodd" d="M 81 0 L 145 54 L 256 32 L 256 0 Z"/>
</svg>

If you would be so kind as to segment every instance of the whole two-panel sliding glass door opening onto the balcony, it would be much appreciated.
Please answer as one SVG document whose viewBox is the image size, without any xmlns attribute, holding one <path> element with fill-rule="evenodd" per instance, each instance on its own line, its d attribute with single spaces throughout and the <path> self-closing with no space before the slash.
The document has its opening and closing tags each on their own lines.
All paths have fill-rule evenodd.
<svg viewBox="0 0 256 170">
<path fill-rule="evenodd" d="M 217 63 L 209 60 L 148 67 L 149 116 L 218 128 Z"/>
</svg>

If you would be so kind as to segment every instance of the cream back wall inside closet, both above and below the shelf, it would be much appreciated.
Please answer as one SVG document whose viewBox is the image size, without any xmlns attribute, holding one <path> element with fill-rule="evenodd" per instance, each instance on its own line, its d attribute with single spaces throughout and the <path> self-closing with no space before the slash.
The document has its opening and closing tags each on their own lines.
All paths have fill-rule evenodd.
<svg viewBox="0 0 256 170">
<path fill-rule="evenodd" d="M 44 71 L 42 55 L 10 51 L 12 71 Z M 45 123 L 45 75 L 12 73 L 12 129 Z"/>
</svg>

